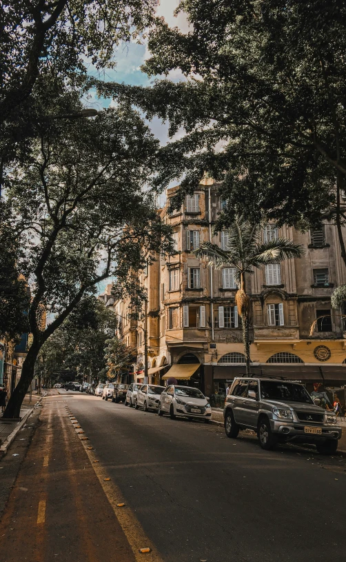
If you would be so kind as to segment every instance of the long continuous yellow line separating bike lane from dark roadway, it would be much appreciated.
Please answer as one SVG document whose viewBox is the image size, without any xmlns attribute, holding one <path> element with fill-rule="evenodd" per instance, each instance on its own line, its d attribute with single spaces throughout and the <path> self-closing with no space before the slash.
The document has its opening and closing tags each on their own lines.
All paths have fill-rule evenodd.
<svg viewBox="0 0 346 562">
<path fill-rule="evenodd" d="M 101 483 L 103 492 L 105 492 L 110 505 L 112 505 L 116 519 L 118 519 L 126 539 L 128 539 L 128 542 L 130 543 L 136 562 L 143 562 L 143 560 L 145 560 L 145 562 L 163 562 L 163 559 L 161 558 L 155 545 L 152 541 L 150 541 L 150 539 L 148 539 L 141 527 L 141 523 L 139 523 L 139 520 L 136 518 L 134 513 L 132 513 L 129 508 L 126 508 L 125 505 L 123 509 L 119 510 L 119 503 L 125 504 L 125 499 L 121 494 L 120 488 L 118 488 L 114 482 L 106 480 L 108 478 L 108 474 L 105 468 L 103 468 L 101 464 L 95 463 L 94 454 L 92 451 L 88 450 L 88 446 L 85 443 L 83 443 L 83 446 L 86 454 L 88 454 L 92 468 Z M 143 545 L 151 549 L 151 552 L 148 552 L 145 555 L 145 559 L 143 558 L 143 554 L 140 552 L 140 550 L 143 549 Z"/>
</svg>

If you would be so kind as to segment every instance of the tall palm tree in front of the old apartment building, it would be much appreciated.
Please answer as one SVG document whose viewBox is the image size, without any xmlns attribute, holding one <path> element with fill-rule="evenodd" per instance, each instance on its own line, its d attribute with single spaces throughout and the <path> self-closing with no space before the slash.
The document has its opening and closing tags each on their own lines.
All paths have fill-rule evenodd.
<svg viewBox="0 0 346 562">
<path fill-rule="evenodd" d="M 282 237 L 263 242 L 261 231 L 260 224 L 253 225 L 244 219 L 243 215 L 236 216 L 234 223 L 228 229 L 227 250 L 221 250 L 217 245 L 205 242 L 194 252 L 196 257 L 206 259 L 209 265 L 214 265 L 216 269 L 236 270 L 238 291 L 235 301 L 242 320 L 247 374 L 250 374 L 250 297 L 246 292 L 245 273 L 253 274 L 254 268 L 259 269 L 262 265 L 279 263 L 287 258 L 300 258 L 304 254 L 303 246 Z"/>
</svg>

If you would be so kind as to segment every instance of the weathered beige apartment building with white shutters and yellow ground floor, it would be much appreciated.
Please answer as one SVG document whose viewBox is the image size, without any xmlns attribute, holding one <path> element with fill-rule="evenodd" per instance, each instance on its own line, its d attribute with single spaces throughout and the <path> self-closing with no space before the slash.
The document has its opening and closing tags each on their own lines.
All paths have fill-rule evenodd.
<svg viewBox="0 0 346 562">
<path fill-rule="evenodd" d="M 223 392 L 228 381 L 244 372 L 241 319 L 235 305 L 234 270 L 216 270 L 196 259 L 193 250 L 203 241 L 227 248 L 227 231 L 212 228 L 223 201 L 217 185 L 204 179 L 192 196 L 172 214 L 167 190 L 161 219 L 173 229 L 175 254 L 161 256 L 140 275 L 148 291 L 147 333 L 152 381 L 174 376 L 190 380 L 207 394 Z M 268 223 L 263 239 L 276 236 L 301 243 L 302 259 L 266 265 L 247 277 L 252 301 L 252 371 L 301 380 L 309 390 L 346 384 L 346 339 L 343 311 L 330 305 L 333 288 L 346 283 L 346 268 L 334 225 L 299 232 Z M 127 303 L 115 305 L 128 317 Z M 144 318 L 123 320 L 122 334 L 137 351 L 134 376 L 144 364 Z M 316 321 L 314 334 L 310 336 Z M 170 369 L 167 368 L 170 365 Z M 343 392 L 341 392 L 343 394 Z M 340 395 L 340 399 L 342 396 Z"/>
</svg>

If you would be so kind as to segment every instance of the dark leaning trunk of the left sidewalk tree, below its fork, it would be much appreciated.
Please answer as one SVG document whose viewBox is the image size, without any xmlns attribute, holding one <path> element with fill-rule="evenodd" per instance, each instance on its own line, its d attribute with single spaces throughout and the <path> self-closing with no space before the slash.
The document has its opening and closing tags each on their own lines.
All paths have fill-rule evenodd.
<svg viewBox="0 0 346 562">
<path fill-rule="evenodd" d="M 23 362 L 21 378 L 10 396 L 6 410 L 3 412 L 3 418 L 12 419 L 20 417 L 21 405 L 26 397 L 26 392 L 28 392 L 31 381 L 34 378 L 35 361 L 40 349 L 41 343 L 34 341 L 28 351 L 25 361 Z"/>
</svg>

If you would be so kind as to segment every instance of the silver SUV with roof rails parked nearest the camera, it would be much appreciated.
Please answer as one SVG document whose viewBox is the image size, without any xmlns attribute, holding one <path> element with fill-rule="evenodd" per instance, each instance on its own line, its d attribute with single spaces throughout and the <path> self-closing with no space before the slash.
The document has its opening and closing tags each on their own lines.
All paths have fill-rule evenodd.
<svg viewBox="0 0 346 562">
<path fill-rule="evenodd" d="M 303 385 L 280 378 L 234 379 L 223 417 L 227 437 L 252 429 L 266 450 L 294 441 L 314 443 L 321 454 L 333 454 L 341 437 L 334 412 L 317 406 Z"/>
</svg>

